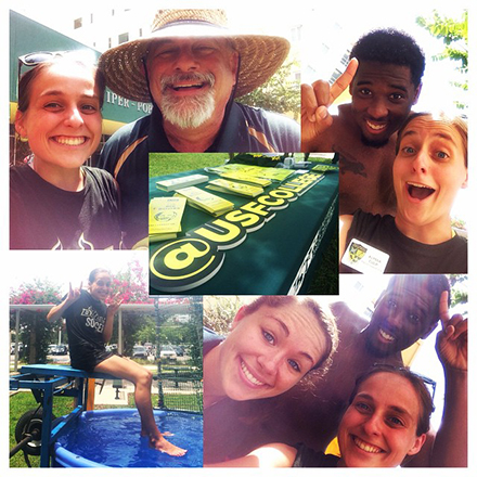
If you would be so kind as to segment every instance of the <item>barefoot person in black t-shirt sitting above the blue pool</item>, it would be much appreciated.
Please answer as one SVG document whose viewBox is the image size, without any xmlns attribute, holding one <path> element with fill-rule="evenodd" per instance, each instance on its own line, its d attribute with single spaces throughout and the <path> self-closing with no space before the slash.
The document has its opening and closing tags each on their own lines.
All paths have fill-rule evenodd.
<svg viewBox="0 0 477 477">
<path fill-rule="evenodd" d="M 185 450 L 167 441 L 154 421 L 151 403 L 152 374 L 132 360 L 107 352 L 105 343 L 113 334 L 114 315 L 120 300 L 115 296 L 109 305 L 111 274 L 104 269 L 94 269 L 89 275 L 89 289 L 73 288 L 63 301 L 48 313 L 49 321 L 66 319 L 72 366 L 88 372 L 112 374 L 134 384 L 134 400 L 141 416 L 141 435 L 150 439 L 151 447 L 169 455 L 183 455 Z"/>
</svg>

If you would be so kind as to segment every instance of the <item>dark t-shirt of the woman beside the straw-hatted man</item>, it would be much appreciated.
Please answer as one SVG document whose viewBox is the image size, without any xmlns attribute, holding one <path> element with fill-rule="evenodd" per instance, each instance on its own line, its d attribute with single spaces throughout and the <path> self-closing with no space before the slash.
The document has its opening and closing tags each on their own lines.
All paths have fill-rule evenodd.
<svg viewBox="0 0 477 477">
<path fill-rule="evenodd" d="M 85 188 L 64 191 L 27 165 L 10 168 L 11 249 L 119 248 L 119 193 L 113 177 L 82 167 Z"/>
</svg>

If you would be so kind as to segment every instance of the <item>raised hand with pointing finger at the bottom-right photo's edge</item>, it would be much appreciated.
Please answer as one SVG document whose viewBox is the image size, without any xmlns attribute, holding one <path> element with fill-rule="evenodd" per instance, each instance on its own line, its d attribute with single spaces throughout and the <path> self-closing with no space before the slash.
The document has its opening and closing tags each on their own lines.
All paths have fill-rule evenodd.
<svg viewBox="0 0 477 477">
<path fill-rule="evenodd" d="M 449 292 L 442 292 L 439 317 L 442 330 L 437 335 L 436 350 L 447 369 L 467 371 L 467 320 L 462 314 L 449 315 Z"/>
</svg>

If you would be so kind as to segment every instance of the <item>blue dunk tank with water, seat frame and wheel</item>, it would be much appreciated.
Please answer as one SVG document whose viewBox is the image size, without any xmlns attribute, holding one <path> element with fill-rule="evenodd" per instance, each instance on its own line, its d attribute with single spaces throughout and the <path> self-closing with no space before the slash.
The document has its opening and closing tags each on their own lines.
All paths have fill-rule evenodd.
<svg viewBox="0 0 477 477">
<path fill-rule="evenodd" d="M 188 449 L 173 457 L 149 447 L 140 437 L 137 409 L 86 411 L 88 378 L 113 379 L 104 373 L 87 373 L 70 366 L 25 365 L 10 378 L 10 389 L 30 389 L 39 408 L 26 412 L 18 421 L 18 444 L 10 455 L 23 450 L 40 455 L 41 467 L 202 467 L 203 416 L 181 411 L 155 411 L 162 433 L 176 446 Z M 54 418 L 53 397 L 73 396 L 76 408 Z"/>
</svg>

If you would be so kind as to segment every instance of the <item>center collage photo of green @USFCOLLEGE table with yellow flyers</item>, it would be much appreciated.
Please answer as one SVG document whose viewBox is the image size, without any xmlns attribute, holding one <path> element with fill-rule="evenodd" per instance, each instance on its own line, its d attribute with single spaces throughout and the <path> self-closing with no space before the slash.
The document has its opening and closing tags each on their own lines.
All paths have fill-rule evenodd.
<svg viewBox="0 0 477 477">
<path fill-rule="evenodd" d="M 150 294 L 336 294 L 332 159 L 150 154 Z"/>
</svg>

